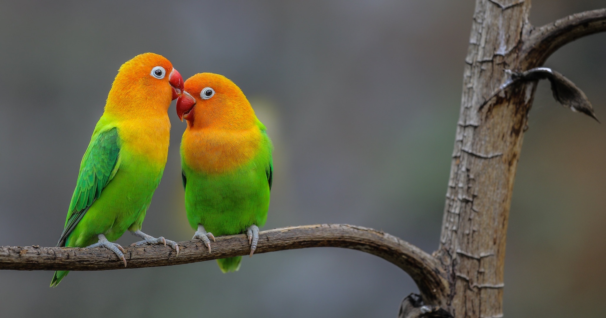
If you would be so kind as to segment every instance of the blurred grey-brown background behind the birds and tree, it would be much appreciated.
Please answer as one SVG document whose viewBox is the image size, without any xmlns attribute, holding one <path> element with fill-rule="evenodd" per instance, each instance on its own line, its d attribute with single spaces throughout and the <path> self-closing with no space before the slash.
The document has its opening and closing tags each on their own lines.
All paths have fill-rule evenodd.
<svg viewBox="0 0 606 318">
<path fill-rule="evenodd" d="M 542 25 L 606 1 L 533 0 Z M 0 245 L 54 246 L 118 67 L 146 51 L 187 78 L 221 73 L 275 143 L 265 228 L 348 223 L 438 247 L 474 1 L 1 1 Z M 547 66 L 606 121 L 606 35 Z M 185 219 L 175 108 L 143 230 Z M 539 85 L 511 205 L 505 316 L 606 315 L 606 127 Z M 125 234 L 118 242 L 135 237 Z M 2 317 L 395 317 L 416 287 L 391 263 L 336 248 L 164 268 L 0 271 Z"/>
</svg>

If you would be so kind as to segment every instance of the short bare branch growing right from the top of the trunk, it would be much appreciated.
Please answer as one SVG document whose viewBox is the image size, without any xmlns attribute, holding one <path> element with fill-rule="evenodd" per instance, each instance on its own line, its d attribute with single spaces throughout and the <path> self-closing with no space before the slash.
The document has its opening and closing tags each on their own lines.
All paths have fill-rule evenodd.
<svg viewBox="0 0 606 318">
<path fill-rule="evenodd" d="M 520 53 L 520 66 L 523 70 L 541 66 L 563 45 L 602 31 L 606 31 L 606 8 L 575 13 L 530 30 Z"/>
</svg>

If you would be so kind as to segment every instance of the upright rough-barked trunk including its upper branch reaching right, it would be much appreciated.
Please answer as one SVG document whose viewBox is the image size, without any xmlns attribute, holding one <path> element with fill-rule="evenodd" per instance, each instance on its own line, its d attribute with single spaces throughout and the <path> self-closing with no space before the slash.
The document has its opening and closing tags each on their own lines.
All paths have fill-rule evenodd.
<svg viewBox="0 0 606 318">
<path fill-rule="evenodd" d="M 499 91 L 512 72 L 606 28 L 606 10 L 534 29 L 530 0 L 476 0 L 439 250 L 454 317 L 502 317 L 505 240 L 513 182 L 535 81 Z"/>
</svg>

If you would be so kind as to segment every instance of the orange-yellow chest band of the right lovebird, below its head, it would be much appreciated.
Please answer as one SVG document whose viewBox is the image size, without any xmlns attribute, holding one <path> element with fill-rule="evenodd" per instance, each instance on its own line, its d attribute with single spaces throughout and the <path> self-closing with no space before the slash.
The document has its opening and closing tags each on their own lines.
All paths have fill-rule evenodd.
<svg viewBox="0 0 606 318">
<path fill-rule="evenodd" d="M 183 134 L 181 156 L 189 168 L 208 174 L 235 170 L 259 153 L 258 127 L 248 130 L 190 130 Z"/>
</svg>

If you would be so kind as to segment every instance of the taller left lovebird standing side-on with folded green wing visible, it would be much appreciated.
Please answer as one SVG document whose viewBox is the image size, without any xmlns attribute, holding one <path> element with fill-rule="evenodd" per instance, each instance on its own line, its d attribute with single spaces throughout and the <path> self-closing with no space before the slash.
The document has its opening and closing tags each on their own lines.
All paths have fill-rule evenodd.
<svg viewBox="0 0 606 318">
<path fill-rule="evenodd" d="M 179 245 L 141 231 L 151 196 L 168 156 L 168 107 L 184 89 L 183 78 L 161 55 L 144 53 L 122 64 L 82 157 L 76 189 L 58 247 L 105 247 L 124 261 L 118 239 L 126 230 L 142 238 L 133 245 Z M 68 271 L 55 271 L 55 287 Z"/>
</svg>

